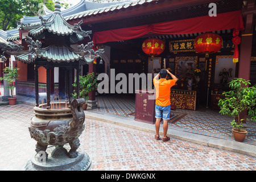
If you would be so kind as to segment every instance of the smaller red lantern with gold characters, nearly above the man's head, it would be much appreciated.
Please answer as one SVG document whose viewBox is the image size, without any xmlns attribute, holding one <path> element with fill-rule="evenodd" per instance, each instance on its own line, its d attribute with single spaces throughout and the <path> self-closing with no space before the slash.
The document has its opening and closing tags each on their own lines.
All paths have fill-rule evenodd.
<svg viewBox="0 0 256 182">
<path fill-rule="evenodd" d="M 161 39 L 147 39 L 142 43 L 142 50 L 147 55 L 154 57 L 164 51 L 165 44 Z"/>
</svg>

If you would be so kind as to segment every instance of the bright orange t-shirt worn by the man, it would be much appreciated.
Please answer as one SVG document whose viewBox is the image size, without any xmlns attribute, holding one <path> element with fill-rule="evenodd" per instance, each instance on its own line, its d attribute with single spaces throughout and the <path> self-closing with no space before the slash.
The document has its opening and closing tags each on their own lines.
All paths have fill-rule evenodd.
<svg viewBox="0 0 256 182">
<path fill-rule="evenodd" d="M 155 104 L 158 106 L 168 106 L 170 102 L 170 90 L 175 85 L 176 80 L 166 80 L 161 78 L 160 80 L 153 80 L 156 90 Z"/>
</svg>

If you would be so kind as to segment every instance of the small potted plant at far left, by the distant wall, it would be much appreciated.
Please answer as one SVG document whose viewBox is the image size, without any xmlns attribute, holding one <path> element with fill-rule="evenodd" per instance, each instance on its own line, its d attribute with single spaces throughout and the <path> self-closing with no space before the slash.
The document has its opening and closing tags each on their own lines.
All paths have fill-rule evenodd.
<svg viewBox="0 0 256 182">
<path fill-rule="evenodd" d="M 9 105 L 16 104 L 17 98 L 13 96 L 13 91 L 15 88 L 14 82 L 18 79 L 18 69 L 19 68 L 6 67 L 5 69 L 3 69 L 5 76 L 0 77 L 0 80 L 5 80 L 9 84 L 6 86 L 6 88 L 11 90 L 11 97 L 8 98 Z"/>
</svg>

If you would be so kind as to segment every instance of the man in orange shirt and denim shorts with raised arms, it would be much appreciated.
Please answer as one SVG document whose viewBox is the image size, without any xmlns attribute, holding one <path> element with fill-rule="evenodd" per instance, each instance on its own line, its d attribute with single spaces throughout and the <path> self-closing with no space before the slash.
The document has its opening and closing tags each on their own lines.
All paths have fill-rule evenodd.
<svg viewBox="0 0 256 182">
<path fill-rule="evenodd" d="M 172 80 L 166 80 L 167 74 L 172 77 Z M 160 79 L 158 80 L 160 76 Z M 167 137 L 168 130 L 168 119 L 170 119 L 171 113 L 171 102 L 170 102 L 170 90 L 171 87 L 175 85 L 177 81 L 176 76 L 172 75 L 168 70 L 162 69 L 158 75 L 153 79 L 153 83 L 156 89 L 156 100 L 155 100 L 155 139 L 159 140 L 159 128 L 160 120 L 163 118 L 163 142 L 170 140 Z"/>
</svg>

